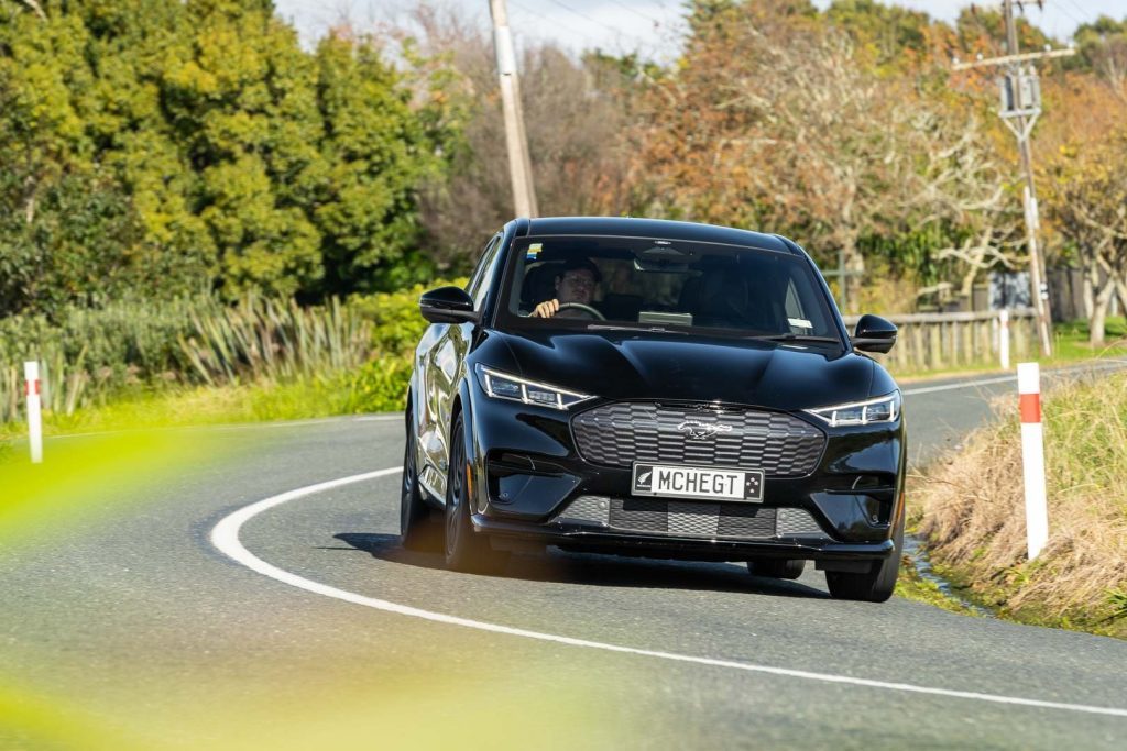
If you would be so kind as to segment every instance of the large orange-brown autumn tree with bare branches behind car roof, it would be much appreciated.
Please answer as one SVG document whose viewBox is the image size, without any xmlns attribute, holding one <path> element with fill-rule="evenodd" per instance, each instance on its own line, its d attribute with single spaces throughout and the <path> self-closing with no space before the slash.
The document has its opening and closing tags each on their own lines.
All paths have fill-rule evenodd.
<svg viewBox="0 0 1127 751">
<path fill-rule="evenodd" d="M 840 251 L 854 286 L 867 239 L 931 226 L 943 248 L 984 229 L 999 164 L 966 111 L 884 77 L 804 3 L 693 9 L 637 131 L 653 213 L 788 232 L 823 261 Z"/>
</svg>

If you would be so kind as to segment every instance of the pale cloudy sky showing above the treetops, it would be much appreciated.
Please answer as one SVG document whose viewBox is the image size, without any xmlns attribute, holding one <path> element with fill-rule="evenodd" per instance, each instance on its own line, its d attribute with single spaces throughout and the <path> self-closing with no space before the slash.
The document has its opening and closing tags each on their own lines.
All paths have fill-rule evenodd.
<svg viewBox="0 0 1127 751">
<path fill-rule="evenodd" d="M 483 27 L 489 24 L 489 0 L 435 0 L 464 11 Z M 826 7 L 829 0 L 814 0 Z M 612 53 L 636 50 L 654 60 L 676 56 L 684 29 L 682 0 L 507 0 L 509 25 L 517 45 L 529 42 L 556 42 L 573 52 L 598 47 Z M 397 12 L 414 5 L 410 0 L 275 0 L 277 12 L 293 23 L 305 44 L 312 44 L 326 29 L 343 18 L 361 27 L 392 20 Z M 933 18 L 955 20 L 965 0 L 900 0 L 895 3 L 926 11 Z M 1001 6 L 997 0 L 980 0 L 980 7 Z M 1127 0 L 1044 0 L 1024 3 L 1027 17 L 1042 30 L 1066 41 L 1081 23 L 1101 14 L 1127 17 Z"/>
</svg>

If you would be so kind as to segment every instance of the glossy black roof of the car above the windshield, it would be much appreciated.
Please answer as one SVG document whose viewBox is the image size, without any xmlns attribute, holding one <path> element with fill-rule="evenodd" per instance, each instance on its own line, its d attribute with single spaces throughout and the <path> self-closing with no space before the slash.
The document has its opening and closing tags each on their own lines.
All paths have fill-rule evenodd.
<svg viewBox="0 0 1127 751">
<path fill-rule="evenodd" d="M 790 241 L 774 234 L 751 230 L 674 222 L 632 216 L 544 216 L 529 221 L 526 236 L 587 235 L 654 238 L 658 240 L 687 240 L 696 242 L 722 242 L 731 245 L 761 248 L 775 252 L 798 254 L 798 248 Z"/>
</svg>

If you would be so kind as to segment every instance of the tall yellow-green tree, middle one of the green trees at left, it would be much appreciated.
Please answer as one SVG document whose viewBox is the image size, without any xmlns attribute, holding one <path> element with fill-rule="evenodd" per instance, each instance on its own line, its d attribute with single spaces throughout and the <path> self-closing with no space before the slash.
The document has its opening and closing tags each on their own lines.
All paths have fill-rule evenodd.
<svg viewBox="0 0 1127 751">
<path fill-rule="evenodd" d="M 323 131 L 312 61 L 268 2 L 189 2 L 184 23 L 186 50 L 163 68 L 161 93 L 197 175 L 220 288 L 314 292 L 323 271 L 307 208 Z"/>
</svg>

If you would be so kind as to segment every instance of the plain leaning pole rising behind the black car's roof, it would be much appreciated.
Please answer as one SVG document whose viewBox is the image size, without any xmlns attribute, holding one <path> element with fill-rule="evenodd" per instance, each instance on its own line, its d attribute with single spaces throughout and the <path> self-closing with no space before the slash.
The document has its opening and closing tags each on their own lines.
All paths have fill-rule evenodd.
<svg viewBox="0 0 1127 751">
<path fill-rule="evenodd" d="M 521 110 L 516 52 L 513 48 L 513 34 L 508 28 L 505 0 L 489 0 L 489 15 L 494 24 L 494 50 L 497 54 L 500 101 L 505 114 L 505 144 L 508 147 L 513 204 L 517 216 L 535 216 L 539 213 L 536 190 L 532 185 L 532 161 L 529 158 L 529 137 L 524 133 L 524 114 Z"/>
</svg>

